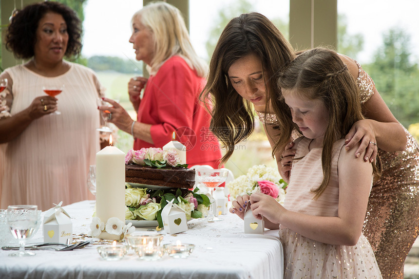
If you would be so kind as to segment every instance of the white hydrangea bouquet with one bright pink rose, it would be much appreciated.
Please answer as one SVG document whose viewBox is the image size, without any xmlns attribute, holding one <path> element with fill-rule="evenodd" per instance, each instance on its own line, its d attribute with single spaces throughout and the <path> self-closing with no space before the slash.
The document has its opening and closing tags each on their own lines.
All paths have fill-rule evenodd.
<svg viewBox="0 0 419 279">
<path fill-rule="evenodd" d="M 279 203 L 284 202 L 287 186 L 278 171 L 265 165 L 249 168 L 246 175 L 241 175 L 226 185 L 233 199 L 244 194 L 261 192 L 273 197 Z"/>
</svg>

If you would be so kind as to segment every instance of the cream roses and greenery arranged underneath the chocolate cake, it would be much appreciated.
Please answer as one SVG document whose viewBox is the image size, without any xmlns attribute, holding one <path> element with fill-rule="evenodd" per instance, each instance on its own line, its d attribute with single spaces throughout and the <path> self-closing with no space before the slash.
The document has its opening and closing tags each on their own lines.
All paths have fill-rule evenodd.
<svg viewBox="0 0 419 279">
<path fill-rule="evenodd" d="M 186 219 L 201 218 L 208 215 L 210 199 L 207 195 L 199 194 L 199 189 L 168 188 L 148 189 L 136 188 L 126 184 L 125 189 L 125 219 L 126 220 L 157 220 L 159 227 L 163 227 L 161 212 L 167 201 L 179 205 L 186 212 Z"/>
</svg>

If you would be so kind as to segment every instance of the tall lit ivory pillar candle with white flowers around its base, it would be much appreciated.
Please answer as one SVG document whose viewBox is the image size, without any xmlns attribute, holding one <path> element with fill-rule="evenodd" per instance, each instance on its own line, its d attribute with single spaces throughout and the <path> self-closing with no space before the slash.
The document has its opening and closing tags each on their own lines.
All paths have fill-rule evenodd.
<svg viewBox="0 0 419 279">
<path fill-rule="evenodd" d="M 116 217 L 125 222 L 125 153 L 112 146 L 96 153 L 96 215 L 101 222 Z M 120 240 L 121 236 L 102 232 L 101 239 Z"/>
</svg>

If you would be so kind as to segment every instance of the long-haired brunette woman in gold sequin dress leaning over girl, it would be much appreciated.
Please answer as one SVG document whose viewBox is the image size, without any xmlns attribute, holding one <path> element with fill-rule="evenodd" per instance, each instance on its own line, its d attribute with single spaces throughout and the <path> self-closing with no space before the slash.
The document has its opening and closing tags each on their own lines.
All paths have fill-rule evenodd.
<svg viewBox="0 0 419 279">
<path fill-rule="evenodd" d="M 226 147 L 223 163 L 234 146 L 252 133 L 254 107 L 274 148 L 281 175 L 288 177 L 292 143 L 275 147 L 275 142 L 281 137 L 281 127 L 291 124 L 284 121 L 289 109 L 278 100 L 281 90 L 276 80 L 278 71 L 294 57 L 285 37 L 261 14 L 243 14 L 227 24 L 201 94 L 202 100 L 212 100 L 210 127 Z M 383 278 L 403 278 L 404 260 L 419 230 L 419 147 L 361 66 L 347 56 L 340 57 L 356 78 L 367 118 L 357 122 L 347 135 L 351 139 L 347 147 L 361 141 L 356 152 L 360 160 L 374 160 L 378 152 L 382 161 L 382 175 L 371 190 L 363 234 L 371 243 Z"/>
</svg>

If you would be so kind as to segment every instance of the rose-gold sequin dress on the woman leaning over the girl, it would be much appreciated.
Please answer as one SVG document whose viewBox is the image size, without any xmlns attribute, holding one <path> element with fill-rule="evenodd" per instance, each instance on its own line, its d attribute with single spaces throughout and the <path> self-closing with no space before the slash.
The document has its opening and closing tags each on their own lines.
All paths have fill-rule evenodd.
<svg viewBox="0 0 419 279">
<path fill-rule="evenodd" d="M 374 93 L 375 85 L 357 64 L 363 104 Z M 419 232 L 419 146 L 404 130 L 405 151 L 378 149 L 383 170 L 380 180 L 372 186 L 363 227 L 383 278 L 403 278 L 404 260 Z"/>
</svg>

